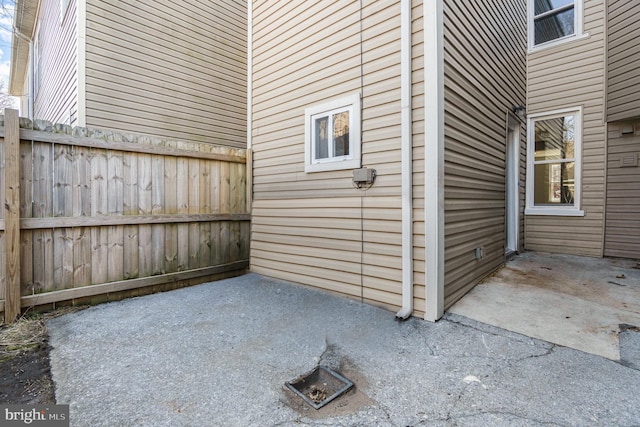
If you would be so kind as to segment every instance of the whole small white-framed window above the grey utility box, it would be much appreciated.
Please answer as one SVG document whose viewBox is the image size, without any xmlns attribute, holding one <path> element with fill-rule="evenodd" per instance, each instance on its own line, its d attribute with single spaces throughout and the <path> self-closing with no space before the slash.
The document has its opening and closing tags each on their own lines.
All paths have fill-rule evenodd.
<svg viewBox="0 0 640 427">
<path fill-rule="evenodd" d="M 360 167 L 360 95 L 305 110 L 305 172 Z"/>
</svg>

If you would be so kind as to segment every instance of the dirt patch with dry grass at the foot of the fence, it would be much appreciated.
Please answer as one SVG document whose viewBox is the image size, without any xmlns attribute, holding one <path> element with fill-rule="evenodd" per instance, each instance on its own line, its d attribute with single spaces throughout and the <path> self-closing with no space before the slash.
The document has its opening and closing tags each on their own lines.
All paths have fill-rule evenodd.
<svg viewBox="0 0 640 427">
<path fill-rule="evenodd" d="M 0 402 L 17 405 L 55 404 L 45 321 L 73 309 L 25 315 L 0 326 Z"/>
</svg>

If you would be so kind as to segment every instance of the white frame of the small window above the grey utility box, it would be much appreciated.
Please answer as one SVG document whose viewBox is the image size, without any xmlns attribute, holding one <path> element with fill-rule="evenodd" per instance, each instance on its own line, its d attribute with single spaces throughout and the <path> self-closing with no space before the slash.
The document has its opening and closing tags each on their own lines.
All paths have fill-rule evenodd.
<svg viewBox="0 0 640 427">
<path fill-rule="evenodd" d="M 349 155 L 315 159 L 314 117 L 349 111 Z M 335 99 L 309 107 L 304 111 L 304 171 L 306 173 L 332 170 L 357 169 L 360 167 L 360 94 Z M 331 121 L 331 120 L 330 120 Z"/>
</svg>

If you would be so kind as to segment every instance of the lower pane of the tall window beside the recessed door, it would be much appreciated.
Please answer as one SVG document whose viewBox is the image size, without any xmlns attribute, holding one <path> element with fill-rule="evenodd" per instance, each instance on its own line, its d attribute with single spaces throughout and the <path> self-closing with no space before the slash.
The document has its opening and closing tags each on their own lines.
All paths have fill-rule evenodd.
<svg viewBox="0 0 640 427">
<path fill-rule="evenodd" d="M 573 205 L 574 162 L 535 165 L 534 205 Z"/>
</svg>

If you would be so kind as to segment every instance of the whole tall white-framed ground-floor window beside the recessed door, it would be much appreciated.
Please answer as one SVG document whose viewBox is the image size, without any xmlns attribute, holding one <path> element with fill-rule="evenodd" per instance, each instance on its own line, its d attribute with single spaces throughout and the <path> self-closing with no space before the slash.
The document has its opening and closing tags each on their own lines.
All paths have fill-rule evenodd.
<svg viewBox="0 0 640 427">
<path fill-rule="evenodd" d="M 529 117 L 527 215 L 582 216 L 582 109 Z"/>
</svg>

